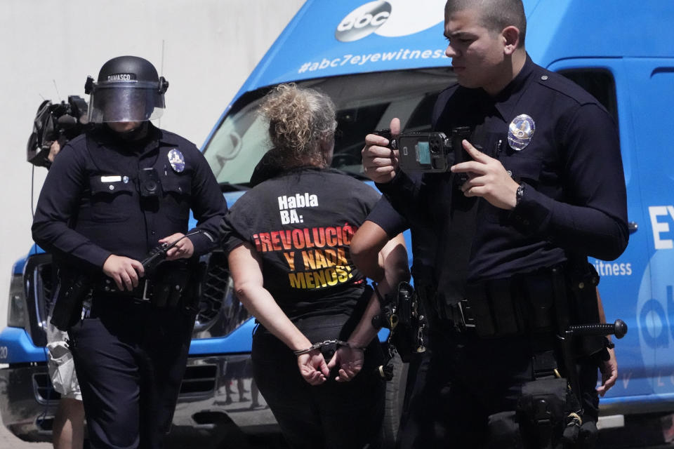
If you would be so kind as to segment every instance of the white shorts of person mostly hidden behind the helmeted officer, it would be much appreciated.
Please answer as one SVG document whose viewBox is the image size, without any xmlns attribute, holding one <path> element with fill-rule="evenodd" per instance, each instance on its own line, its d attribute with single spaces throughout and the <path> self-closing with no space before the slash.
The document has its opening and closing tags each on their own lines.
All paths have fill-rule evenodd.
<svg viewBox="0 0 674 449">
<path fill-rule="evenodd" d="M 51 319 L 51 317 L 50 317 Z M 68 334 L 47 321 L 47 368 L 54 389 L 62 398 L 82 400 L 79 382 L 75 374 L 72 352 L 65 341 Z"/>
</svg>

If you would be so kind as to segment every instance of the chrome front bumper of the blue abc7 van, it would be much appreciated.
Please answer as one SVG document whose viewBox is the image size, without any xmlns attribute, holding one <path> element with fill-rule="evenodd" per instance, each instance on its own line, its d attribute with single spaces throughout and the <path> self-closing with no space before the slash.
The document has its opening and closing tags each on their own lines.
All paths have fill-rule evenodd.
<svg viewBox="0 0 674 449">
<path fill-rule="evenodd" d="M 264 398 L 251 389 L 252 377 L 250 354 L 188 358 L 173 425 L 209 431 L 233 423 L 246 434 L 277 429 Z M 0 369 L 2 422 L 22 440 L 51 441 L 59 398 L 44 362 Z"/>
</svg>

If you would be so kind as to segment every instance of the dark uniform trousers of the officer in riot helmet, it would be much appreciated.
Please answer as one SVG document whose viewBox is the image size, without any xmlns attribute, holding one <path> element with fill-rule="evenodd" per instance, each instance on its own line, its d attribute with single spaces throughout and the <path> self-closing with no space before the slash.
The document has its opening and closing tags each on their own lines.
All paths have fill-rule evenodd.
<svg viewBox="0 0 674 449">
<path fill-rule="evenodd" d="M 92 448 L 161 448 L 185 373 L 194 314 L 95 297 L 70 329 Z"/>
</svg>

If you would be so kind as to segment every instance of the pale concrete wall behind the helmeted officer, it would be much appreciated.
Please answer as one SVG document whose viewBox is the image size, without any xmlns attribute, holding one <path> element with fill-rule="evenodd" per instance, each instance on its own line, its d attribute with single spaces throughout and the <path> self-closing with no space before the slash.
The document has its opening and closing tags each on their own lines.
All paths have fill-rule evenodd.
<svg viewBox="0 0 674 449">
<path fill-rule="evenodd" d="M 84 95 L 87 75 L 138 55 L 171 86 L 162 128 L 197 146 L 304 0 L 2 0 L 0 3 L 0 328 L 13 262 L 32 243 L 45 168 L 26 162 L 43 99 Z M 32 193 L 32 189 L 34 192 Z"/>
</svg>

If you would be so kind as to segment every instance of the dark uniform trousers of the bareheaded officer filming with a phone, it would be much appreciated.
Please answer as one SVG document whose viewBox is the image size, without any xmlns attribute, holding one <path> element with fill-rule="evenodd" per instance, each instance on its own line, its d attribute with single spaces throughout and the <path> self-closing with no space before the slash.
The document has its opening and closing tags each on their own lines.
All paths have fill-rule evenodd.
<svg viewBox="0 0 674 449">
<path fill-rule="evenodd" d="M 482 339 L 447 330 L 430 333 L 429 340 L 398 447 L 535 448 L 520 441 L 514 414 L 522 384 L 534 379 L 531 338 Z M 597 366 L 581 366 L 579 372 L 586 418 L 596 421 Z M 495 434 L 494 418 L 504 416 L 505 425 L 496 426 L 502 433 Z"/>
</svg>

